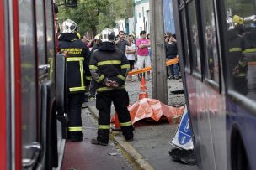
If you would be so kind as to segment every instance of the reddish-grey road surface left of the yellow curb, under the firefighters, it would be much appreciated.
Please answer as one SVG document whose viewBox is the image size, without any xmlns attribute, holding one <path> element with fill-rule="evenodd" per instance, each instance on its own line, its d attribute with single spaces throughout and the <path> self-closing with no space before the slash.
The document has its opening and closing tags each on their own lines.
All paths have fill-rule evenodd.
<svg viewBox="0 0 256 170">
<path fill-rule="evenodd" d="M 91 103 L 93 104 L 93 102 Z M 97 135 L 97 121 L 88 109 L 83 109 L 83 141 L 66 141 L 61 170 L 131 170 L 135 169 L 117 143 L 110 140 L 108 146 L 93 145 L 92 138 Z"/>
</svg>

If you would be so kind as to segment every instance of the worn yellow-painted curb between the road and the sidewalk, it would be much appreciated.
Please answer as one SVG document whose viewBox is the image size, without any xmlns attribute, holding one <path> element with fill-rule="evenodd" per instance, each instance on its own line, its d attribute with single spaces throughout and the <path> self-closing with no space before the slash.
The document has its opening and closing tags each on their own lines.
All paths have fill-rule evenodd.
<svg viewBox="0 0 256 170">
<path fill-rule="evenodd" d="M 88 110 L 91 111 L 93 117 L 98 119 L 99 112 L 95 106 L 89 106 Z M 123 137 L 116 136 L 115 133 L 110 133 L 110 138 L 118 144 L 125 157 L 131 161 L 136 169 L 153 170 L 154 168 L 131 146 L 129 142 L 125 142 Z"/>
</svg>

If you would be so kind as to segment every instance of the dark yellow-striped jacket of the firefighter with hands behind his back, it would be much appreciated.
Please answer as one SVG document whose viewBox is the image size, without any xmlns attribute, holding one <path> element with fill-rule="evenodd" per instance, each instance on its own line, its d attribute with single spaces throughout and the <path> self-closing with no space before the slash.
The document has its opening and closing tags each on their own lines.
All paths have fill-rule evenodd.
<svg viewBox="0 0 256 170">
<path fill-rule="evenodd" d="M 95 50 L 91 56 L 89 69 L 96 81 L 96 90 L 104 92 L 109 90 L 125 89 L 125 79 L 130 70 L 130 64 L 125 54 L 115 48 L 115 44 L 106 44 L 111 50 Z M 114 45 L 114 46 L 113 46 Z M 104 85 L 105 80 L 116 81 L 119 87 L 112 88 Z"/>
</svg>

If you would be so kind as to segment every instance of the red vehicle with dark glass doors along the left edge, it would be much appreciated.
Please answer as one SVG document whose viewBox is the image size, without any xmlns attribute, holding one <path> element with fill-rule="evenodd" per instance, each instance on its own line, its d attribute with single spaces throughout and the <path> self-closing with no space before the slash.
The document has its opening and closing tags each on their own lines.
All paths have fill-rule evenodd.
<svg viewBox="0 0 256 170">
<path fill-rule="evenodd" d="M 0 2 L 0 169 L 58 167 L 65 59 L 56 58 L 53 7 L 52 0 Z"/>
</svg>

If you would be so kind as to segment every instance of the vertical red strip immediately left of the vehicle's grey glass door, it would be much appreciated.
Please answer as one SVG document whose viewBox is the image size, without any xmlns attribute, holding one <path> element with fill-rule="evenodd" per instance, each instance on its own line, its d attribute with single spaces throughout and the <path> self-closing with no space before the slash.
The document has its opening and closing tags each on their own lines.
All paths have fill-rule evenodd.
<svg viewBox="0 0 256 170">
<path fill-rule="evenodd" d="M 21 69 L 19 56 L 19 1 L 13 0 L 13 34 L 14 34 L 14 61 L 15 61 L 15 159 L 16 170 L 21 169 Z"/>
</svg>

